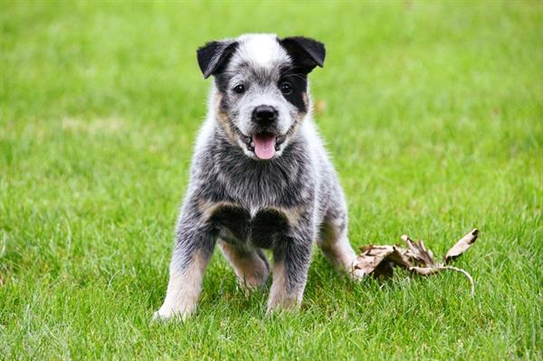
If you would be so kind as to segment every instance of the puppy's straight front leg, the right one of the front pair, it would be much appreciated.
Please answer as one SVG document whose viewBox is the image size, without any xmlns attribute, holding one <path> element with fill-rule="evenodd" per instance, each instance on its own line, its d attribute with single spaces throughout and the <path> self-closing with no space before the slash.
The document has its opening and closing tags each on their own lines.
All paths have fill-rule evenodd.
<svg viewBox="0 0 543 361">
<path fill-rule="evenodd" d="M 286 237 L 273 250 L 273 282 L 268 312 L 300 306 L 308 279 L 311 236 Z"/>
</svg>

